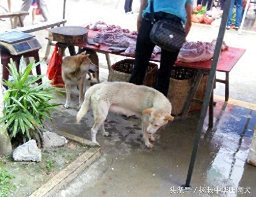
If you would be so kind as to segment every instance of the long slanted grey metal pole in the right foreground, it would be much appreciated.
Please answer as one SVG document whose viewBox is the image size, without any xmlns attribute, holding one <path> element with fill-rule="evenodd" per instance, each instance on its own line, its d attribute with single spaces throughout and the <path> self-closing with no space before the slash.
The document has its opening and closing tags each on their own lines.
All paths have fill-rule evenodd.
<svg viewBox="0 0 256 197">
<path fill-rule="evenodd" d="M 226 24 L 228 21 L 228 12 L 229 12 L 229 8 L 230 8 L 230 4 L 231 4 L 231 0 L 227 0 L 224 4 L 222 20 L 220 23 L 219 33 L 218 33 L 217 42 L 216 42 L 216 46 L 215 46 L 215 50 L 214 50 L 213 61 L 211 64 L 211 70 L 209 73 L 209 79 L 208 79 L 208 83 L 207 83 L 207 87 L 206 87 L 206 92 L 204 94 L 204 101 L 203 101 L 203 105 L 202 105 L 202 109 L 201 109 L 201 113 L 200 113 L 200 119 L 198 122 L 197 134 L 196 134 L 196 137 L 194 140 L 194 147 L 192 150 L 191 160 L 190 160 L 190 164 L 189 164 L 189 170 L 187 173 L 187 180 L 185 182 L 185 185 L 182 185 L 183 188 L 190 187 L 190 181 L 191 181 L 191 177 L 192 177 L 192 171 L 194 168 L 194 162 L 196 160 L 198 144 L 199 144 L 199 140 L 201 137 L 202 128 L 204 125 L 204 119 L 206 117 L 207 107 L 209 105 L 209 101 L 211 98 L 213 84 L 215 81 L 217 63 L 218 63 L 218 59 L 219 59 L 219 55 L 220 55 L 220 51 L 221 51 L 221 46 L 222 46 L 222 41 L 224 38 Z"/>
</svg>

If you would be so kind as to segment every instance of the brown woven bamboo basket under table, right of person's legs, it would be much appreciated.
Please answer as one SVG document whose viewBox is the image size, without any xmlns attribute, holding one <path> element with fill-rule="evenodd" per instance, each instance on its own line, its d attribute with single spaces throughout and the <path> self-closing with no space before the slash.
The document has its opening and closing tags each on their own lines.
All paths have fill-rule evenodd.
<svg viewBox="0 0 256 197">
<path fill-rule="evenodd" d="M 172 115 L 177 116 L 183 112 L 185 101 L 189 97 L 196 69 L 176 67 L 172 69 L 167 98 L 172 103 Z M 203 100 L 208 81 L 208 75 L 204 75 L 196 92 L 196 99 Z M 189 112 L 202 109 L 201 103 L 193 102 Z"/>
</svg>

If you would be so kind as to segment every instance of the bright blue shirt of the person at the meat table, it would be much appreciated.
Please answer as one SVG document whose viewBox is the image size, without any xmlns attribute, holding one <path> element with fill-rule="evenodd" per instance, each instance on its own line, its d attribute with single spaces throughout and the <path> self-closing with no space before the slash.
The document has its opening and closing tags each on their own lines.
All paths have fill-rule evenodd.
<svg viewBox="0 0 256 197">
<path fill-rule="evenodd" d="M 187 4 L 192 4 L 192 0 L 153 0 L 154 12 L 166 12 L 176 15 L 181 18 L 182 22 L 186 23 L 187 13 L 185 7 Z M 142 16 L 150 13 L 150 0 L 148 0 L 148 7 L 143 10 Z"/>
</svg>

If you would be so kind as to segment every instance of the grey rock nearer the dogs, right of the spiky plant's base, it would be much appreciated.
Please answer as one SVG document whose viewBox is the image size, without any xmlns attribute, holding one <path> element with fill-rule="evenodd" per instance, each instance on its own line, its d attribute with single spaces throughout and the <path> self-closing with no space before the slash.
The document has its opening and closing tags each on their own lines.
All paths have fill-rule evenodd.
<svg viewBox="0 0 256 197">
<path fill-rule="evenodd" d="M 45 142 L 45 147 L 60 147 L 67 144 L 67 139 L 65 137 L 50 131 L 43 133 L 43 140 Z"/>
</svg>

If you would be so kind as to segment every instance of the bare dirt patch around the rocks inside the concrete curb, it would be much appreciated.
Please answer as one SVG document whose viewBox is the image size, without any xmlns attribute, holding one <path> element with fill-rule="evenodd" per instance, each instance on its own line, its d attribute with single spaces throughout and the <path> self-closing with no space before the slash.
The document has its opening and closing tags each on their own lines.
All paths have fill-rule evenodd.
<svg viewBox="0 0 256 197">
<path fill-rule="evenodd" d="M 11 189 L 8 196 L 29 196 L 88 150 L 88 146 L 68 140 L 63 147 L 42 148 L 41 162 L 14 162 L 11 156 L 0 158 L 0 170 L 6 169 L 15 176 L 9 185 L 17 188 Z"/>
</svg>

